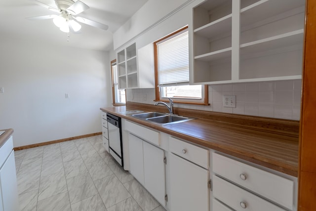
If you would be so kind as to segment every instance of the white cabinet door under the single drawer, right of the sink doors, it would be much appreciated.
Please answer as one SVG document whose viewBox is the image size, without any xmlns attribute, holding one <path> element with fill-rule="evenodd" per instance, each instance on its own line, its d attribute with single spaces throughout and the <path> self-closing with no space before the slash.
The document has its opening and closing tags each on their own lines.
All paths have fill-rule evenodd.
<svg viewBox="0 0 316 211">
<path fill-rule="evenodd" d="M 170 153 L 170 211 L 208 211 L 208 170 Z"/>
</svg>

